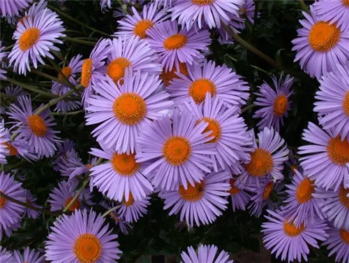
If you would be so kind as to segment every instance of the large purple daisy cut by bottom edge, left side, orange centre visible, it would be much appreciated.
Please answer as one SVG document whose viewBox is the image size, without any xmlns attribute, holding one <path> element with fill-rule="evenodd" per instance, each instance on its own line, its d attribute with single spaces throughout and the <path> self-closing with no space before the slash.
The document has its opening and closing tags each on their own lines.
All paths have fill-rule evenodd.
<svg viewBox="0 0 349 263">
<path fill-rule="evenodd" d="M 45 243 L 46 260 L 52 263 L 116 262 L 121 251 L 117 234 L 105 218 L 94 211 L 77 210 L 73 215 L 63 215 L 54 222 Z"/>
</svg>

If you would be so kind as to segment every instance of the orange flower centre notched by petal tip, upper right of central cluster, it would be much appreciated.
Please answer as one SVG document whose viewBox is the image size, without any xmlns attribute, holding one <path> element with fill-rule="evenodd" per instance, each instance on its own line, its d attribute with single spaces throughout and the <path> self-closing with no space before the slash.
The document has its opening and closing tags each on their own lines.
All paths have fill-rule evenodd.
<svg viewBox="0 0 349 263">
<path fill-rule="evenodd" d="M 207 78 L 199 78 L 193 81 L 189 87 L 189 96 L 193 98 L 196 104 L 205 101 L 207 92 L 211 93 L 211 97 L 214 97 L 214 94 L 216 94 L 216 85 Z"/>
</svg>

